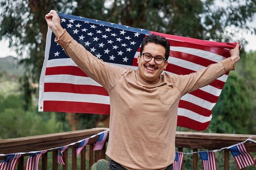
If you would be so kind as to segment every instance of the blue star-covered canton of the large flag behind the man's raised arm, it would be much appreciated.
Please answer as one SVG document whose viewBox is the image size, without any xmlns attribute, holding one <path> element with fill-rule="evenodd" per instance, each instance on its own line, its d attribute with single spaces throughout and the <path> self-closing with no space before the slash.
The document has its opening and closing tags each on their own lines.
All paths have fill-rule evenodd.
<svg viewBox="0 0 256 170">
<path fill-rule="evenodd" d="M 74 40 L 105 62 L 131 66 L 134 55 L 139 49 L 139 42 L 145 37 L 145 33 L 150 34 L 150 31 L 129 26 L 62 13 L 58 13 L 58 15 L 61 18 L 61 26 L 72 35 Z M 117 26 L 115 27 L 115 25 Z M 54 38 L 55 36 L 52 34 L 52 44 L 56 44 Z M 57 48 L 51 46 L 49 60 L 67 58 L 62 47 L 56 45 Z"/>
</svg>

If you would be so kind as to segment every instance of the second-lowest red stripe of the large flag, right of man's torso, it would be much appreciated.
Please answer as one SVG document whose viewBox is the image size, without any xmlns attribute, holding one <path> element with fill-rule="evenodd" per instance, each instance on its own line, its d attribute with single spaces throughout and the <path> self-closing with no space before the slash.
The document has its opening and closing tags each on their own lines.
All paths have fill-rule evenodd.
<svg viewBox="0 0 256 170">
<path fill-rule="evenodd" d="M 209 117 L 211 115 L 211 110 L 202 108 L 201 106 L 198 106 L 196 104 L 193 104 L 184 100 L 180 100 L 179 108 L 185 108 L 187 110 L 191 110 L 192 112 L 198 113 L 202 116 Z"/>
</svg>

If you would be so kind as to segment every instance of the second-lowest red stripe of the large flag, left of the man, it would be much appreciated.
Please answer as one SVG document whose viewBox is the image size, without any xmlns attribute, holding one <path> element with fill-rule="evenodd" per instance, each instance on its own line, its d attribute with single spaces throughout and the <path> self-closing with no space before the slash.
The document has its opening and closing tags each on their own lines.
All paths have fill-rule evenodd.
<svg viewBox="0 0 256 170">
<path fill-rule="evenodd" d="M 78 94 L 96 94 L 108 96 L 108 92 L 102 86 L 68 84 L 68 83 L 45 83 L 44 92 L 67 92 Z"/>
</svg>

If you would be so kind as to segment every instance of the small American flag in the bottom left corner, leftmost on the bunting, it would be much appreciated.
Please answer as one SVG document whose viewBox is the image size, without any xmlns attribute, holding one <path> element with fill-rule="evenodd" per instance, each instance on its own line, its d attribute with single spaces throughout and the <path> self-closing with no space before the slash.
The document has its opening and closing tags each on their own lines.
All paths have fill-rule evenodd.
<svg viewBox="0 0 256 170">
<path fill-rule="evenodd" d="M 0 170 L 14 170 L 21 155 L 21 153 L 7 155 L 6 158 L 0 162 Z"/>
</svg>

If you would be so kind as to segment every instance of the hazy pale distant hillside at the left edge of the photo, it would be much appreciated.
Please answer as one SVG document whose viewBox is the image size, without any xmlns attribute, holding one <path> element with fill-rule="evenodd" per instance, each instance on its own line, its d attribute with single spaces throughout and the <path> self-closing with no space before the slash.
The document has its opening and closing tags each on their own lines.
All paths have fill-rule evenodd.
<svg viewBox="0 0 256 170">
<path fill-rule="evenodd" d="M 15 57 L 0 58 L 0 95 L 20 93 L 19 78 L 24 73 L 24 67 Z"/>
</svg>

